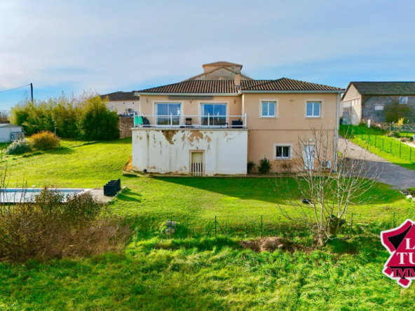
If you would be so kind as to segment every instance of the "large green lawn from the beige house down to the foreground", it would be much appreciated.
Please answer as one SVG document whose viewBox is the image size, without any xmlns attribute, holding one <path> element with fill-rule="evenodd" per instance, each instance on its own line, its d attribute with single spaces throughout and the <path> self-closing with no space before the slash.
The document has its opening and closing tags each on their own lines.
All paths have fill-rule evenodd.
<svg viewBox="0 0 415 311">
<path fill-rule="evenodd" d="M 411 310 L 414 305 L 413 286 L 401 289 L 381 274 L 388 253 L 377 235 L 355 235 L 310 253 L 243 250 L 238 241 L 250 226 L 259 228 L 260 215 L 264 226 L 286 222 L 276 208 L 283 193 L 274 191 L 273 178 L 124 177 L 130 143 L 66 141 L 54 151 L 7 157 L 0 164 L 11 184 L 90 188 L 121 177 L 128 191 L 111 209 L 141 219 L 125 254 L 0 263 L 0 310 Z M 410 204 L 399 192 L 378 184 L 371 194 L 379 198 L 351 210 L 354 223 L 390 225 L 393 212 L 396 223 L 407 217 Z M 198 228 L 210 225 L 215 215 L 225 228 L 240 232 L 215 238 L 190 230 L 189 237 L 177 240 L 159 234 L 170 217 Z M 355 225 L 355 230 L 363 229 Z M 299 232 L 290 234 L 295 238 Z"/>
</svg>

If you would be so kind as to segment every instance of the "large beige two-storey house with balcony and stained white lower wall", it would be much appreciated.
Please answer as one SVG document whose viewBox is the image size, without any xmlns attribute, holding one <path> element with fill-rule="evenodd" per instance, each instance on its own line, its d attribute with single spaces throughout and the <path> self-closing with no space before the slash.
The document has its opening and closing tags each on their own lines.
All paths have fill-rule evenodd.
<svg viewBox="0 0 415 311">
<path fill-rule="evenodd" d="M 336 139 L 341 88 L 290 78 L 254 80 L 215 62 L 170 85 L 137 90 L 132 167 L 161 174 L 247 174 L 247 161 L 293 160 L 299 135 L 329 128 Z M 313 162 L 314 141 L 308 152 Z"/>
</svg>

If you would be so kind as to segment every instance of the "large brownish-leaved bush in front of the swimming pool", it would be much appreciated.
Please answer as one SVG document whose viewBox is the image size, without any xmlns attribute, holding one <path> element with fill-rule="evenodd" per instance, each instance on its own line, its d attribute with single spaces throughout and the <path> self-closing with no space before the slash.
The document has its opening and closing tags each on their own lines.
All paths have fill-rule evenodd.
<svg viewBox="0 0 415 311">
<path fill-rule="evenodd" d="M 31 202 L 0 204 L 0 261 L 121 251 L 130 229 L 105 212 L 89 193 L 65 199 L 48 189 Z"/>
</svg>

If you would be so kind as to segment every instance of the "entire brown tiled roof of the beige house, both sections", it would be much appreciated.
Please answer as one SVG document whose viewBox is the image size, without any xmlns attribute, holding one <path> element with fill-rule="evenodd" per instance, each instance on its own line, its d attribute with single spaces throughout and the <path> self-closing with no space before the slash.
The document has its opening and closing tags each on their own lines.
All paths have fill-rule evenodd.
<svg viewBox="0 0 415 311">
<path fill-rule="evenodd" d="M 139 93 L 189 93 L 214 94 L 241 91 L 342 91 L 342 88 L 309 83 L 304 81 L 280 78 L 278 80 L 243 80 L 241 86 L 235 86 L 232 80 L 191 80 L 139 90 Z"/>
</svg>

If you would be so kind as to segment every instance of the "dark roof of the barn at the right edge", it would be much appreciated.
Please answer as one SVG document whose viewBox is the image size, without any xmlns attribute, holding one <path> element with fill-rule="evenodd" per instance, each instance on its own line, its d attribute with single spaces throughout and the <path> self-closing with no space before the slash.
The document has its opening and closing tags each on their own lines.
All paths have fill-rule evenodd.
<svg viewBox="0 0 415 311">
<path fill-rule="evenodd" d="M 351 82 L 360 95 L 415 95 L 415 82 Z"/>
</svg>

